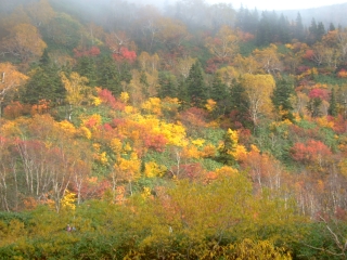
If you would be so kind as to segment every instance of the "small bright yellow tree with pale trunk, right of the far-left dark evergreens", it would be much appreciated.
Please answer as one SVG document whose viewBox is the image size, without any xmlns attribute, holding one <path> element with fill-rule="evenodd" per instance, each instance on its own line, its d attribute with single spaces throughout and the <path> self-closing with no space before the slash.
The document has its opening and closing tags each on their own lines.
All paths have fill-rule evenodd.
<svg viewBox="0 0 347 260">
<path fill-rule="evenodd" d="M 91 95 L 91 88 L 87 86 L 88 78 L 81 77 L 78 73 L 72 73 L 67 78 L 64 73 L 61 73 L 61 78 L 66 89 L 66 101 L 69 104 L 68 120 L 72 119 L 74 106 L 79 106 L 83 101 Z"/>
</svg>

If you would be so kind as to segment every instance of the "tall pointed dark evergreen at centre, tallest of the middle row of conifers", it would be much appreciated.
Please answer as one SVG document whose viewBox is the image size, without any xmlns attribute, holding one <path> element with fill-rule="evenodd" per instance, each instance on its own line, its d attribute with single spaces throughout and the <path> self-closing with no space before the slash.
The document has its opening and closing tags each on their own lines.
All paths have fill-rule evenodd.
<svg viewBox="0 0 347 260">
<path fill-rule="evenodd" d="M 204 107 L 208 99 L 203 68 L 200 62 L 193 64 L 187 78 L 187 92 L 190 102 L 197 107 Z"/>
</svg>

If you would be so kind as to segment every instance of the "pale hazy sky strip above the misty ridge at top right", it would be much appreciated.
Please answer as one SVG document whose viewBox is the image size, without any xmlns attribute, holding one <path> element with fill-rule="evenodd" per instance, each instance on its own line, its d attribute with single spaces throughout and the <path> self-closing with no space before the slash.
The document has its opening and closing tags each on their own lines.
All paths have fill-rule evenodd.
<svg viewBox="0 0 347 260">
<path fill-rule="evenodd" d="M 241 3 L 243 6 L 254 9 L 255 6 L 259 10 L 291 10 L 291 9 L 308 9 L 319 8 L 324 5 L 331 5 L 334 3 L 345 3 L 347 0 L 207 0 L 210 3 L 228 2 L 233 8 L 240 8 Z"/>
</svg>

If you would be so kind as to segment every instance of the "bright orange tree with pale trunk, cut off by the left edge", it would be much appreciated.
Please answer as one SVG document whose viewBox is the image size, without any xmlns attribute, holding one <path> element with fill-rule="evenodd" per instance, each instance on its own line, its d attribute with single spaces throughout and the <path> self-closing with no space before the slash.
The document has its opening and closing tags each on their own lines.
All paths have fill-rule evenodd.
<svg viewBox="0 0 347 260">
<path fill-rule="evenodd" d="M 27 79 L 28 77 L 16 70 L 11 63 L 0 63 L 0 117 L 4 99 Z"/>
</svg>

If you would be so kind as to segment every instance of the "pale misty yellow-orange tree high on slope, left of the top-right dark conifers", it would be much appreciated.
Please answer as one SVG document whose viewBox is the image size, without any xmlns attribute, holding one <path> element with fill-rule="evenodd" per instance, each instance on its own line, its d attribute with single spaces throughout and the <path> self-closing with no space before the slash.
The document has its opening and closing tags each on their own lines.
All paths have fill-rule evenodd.
<svg viewBox="0 0 347 260">
<path fill-rule="evenodd" d="M 209 51 L 221 60 L 229 60 L 239 50 L 239 37 L 229 26 L 223 25 L 216 37 L 206 39 L 206 47 Z"/>
</svg>

